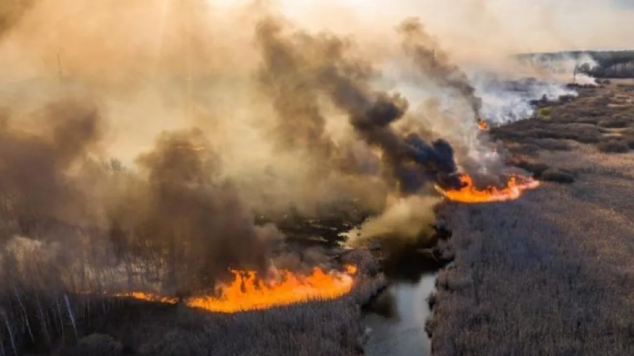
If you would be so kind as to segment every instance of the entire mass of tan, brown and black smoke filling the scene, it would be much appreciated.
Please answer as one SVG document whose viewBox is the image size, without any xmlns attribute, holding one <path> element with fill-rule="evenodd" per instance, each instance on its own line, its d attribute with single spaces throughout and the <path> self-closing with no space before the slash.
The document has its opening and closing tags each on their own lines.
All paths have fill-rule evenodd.
<svg viewBox="0 0 634 356">
<path fill-rule="evenodd" d="M 36 265 L 69 290 L 193 293 L 229 267 L 264 271 L 280 233 L 255 212 L 380 215 L 459 170 L 495 175 L 474 116 L 518 120 L 561 89 L 509 55 L 633 37 L 632 10 L 598 0 L 298 4 L 0 6 L 3 263 L 48 252 Z M 528 96 L 505 84 L 521 70 Z M 371 231 L 412 236 L 385 214 Z"/>
</svg>

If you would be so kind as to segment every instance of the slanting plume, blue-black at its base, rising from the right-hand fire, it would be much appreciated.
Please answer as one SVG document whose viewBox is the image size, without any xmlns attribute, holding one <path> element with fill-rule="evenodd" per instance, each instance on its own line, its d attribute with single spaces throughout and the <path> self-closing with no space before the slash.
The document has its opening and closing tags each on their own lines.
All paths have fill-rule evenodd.
<svg viewBox="0 0 634 356">
<path fill-rule="evenodd" d="M 427 144 L 415 133 L 406 135 L 394 130 L 392 124 L 404 116 L 408 102 L 398 94 L 371 87 L 378 73 L 371 63 L 354 57 L 352 43 L 332 34 L 311 36 L 297 31 L 285 35 L 283 30 L 281 21 L 274 18 L 259 24 L 257 39 L 265 53 L 280 58 L 280 66 L 283 63 L 285 68 L 309 68 L 304 87 L 328 98 L 347 114 L 360 139 L 380 149 L 383 174 L 394 180 L 400 191 L 414 193 L 425 182 L 446 179 L 456 171 L 453 149 L 447 141 Z M 312 105 L 304 112 L 315 113 Z M 315 118 L 319 121 L 318 117 L 309 116 L 313 122 Z"/>
</svg>

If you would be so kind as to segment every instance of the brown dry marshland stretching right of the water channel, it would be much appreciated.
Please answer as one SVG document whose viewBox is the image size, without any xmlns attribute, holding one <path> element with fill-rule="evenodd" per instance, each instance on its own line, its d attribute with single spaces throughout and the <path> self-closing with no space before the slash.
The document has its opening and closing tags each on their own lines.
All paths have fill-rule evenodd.
<svg viewBox="0 0 634 356">
<path fill-rule="evenodd" d="M 634 93 L 578 90 L 490 131 L 540 189 L 443 208 L 434 355 L 634 355 Z"/>
</svg>

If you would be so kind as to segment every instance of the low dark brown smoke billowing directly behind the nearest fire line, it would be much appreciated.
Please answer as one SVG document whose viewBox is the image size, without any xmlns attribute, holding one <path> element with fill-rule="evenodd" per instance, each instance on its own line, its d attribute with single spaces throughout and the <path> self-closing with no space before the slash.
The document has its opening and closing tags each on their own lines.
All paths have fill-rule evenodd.
<svg viewBox="0 0 634 356">
<path fill-rule="evenodd" d="M 103 137 L 96 107 L 61 101 L 32 121 L 33 132 L 11 117 L 1 125 L 2 263 L 25 265 L 11 247 L 25 238 L 57 246 L 40 248 L 29 270 L 48 271 L 56 288 L 72 291 L 147 288 L 159 279 L 163 293 L 192 293 L 213 288 L 229 268 L 268 269 L 281 234 L 255 226 L 199 129 L 161 134 L 135 173 L 87 161 Z"/>
</svg>

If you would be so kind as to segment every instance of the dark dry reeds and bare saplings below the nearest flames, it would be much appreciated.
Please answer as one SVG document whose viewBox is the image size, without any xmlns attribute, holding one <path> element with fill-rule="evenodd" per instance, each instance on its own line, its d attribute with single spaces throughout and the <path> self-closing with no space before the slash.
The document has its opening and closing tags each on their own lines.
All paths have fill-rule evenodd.
<svg viewBox="0 0 634 356">
<path fill-rule="evenodd" d="M 362 277 L 349 295 L 237 314 L 61 291 L 4 290 L 1 355 L 361 355 L 361 305 L 385 281 L 366 250 L 337 260 L 361 267 Z"/>
</svg>

